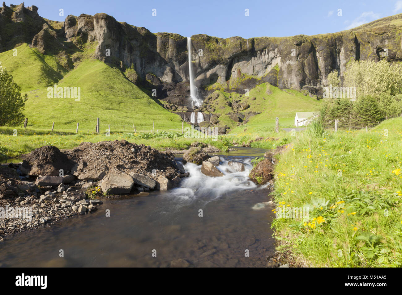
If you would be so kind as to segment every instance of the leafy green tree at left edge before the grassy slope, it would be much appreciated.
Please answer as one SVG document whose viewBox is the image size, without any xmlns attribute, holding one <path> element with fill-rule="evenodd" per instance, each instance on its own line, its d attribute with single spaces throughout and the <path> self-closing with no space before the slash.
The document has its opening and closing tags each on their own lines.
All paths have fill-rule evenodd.
<svg viewBox="0 0 402 295">
<path fill-rule="evenodd" d="M 14 82 L 12 75 L 7 73 L 0 62 L 0 126 L 21 124 L 27 99 L 27 94 L 21 96 L 21 87 Z"/>
</svg>

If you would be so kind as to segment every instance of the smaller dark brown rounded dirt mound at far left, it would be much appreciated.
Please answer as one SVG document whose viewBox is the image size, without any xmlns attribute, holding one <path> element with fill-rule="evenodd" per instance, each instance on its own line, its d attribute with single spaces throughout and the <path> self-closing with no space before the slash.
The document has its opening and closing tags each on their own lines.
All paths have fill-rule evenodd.
<svg viewBox="0 0 402 295">
<path fill-rule="evenodd" d="M 58 176 L 60 169 L 71 170 L 72 163 L 66 154 L 52 145 L 42 146 L 27 155 L 23 161 L 21 172 L 31 176 Z"/>
</svg>

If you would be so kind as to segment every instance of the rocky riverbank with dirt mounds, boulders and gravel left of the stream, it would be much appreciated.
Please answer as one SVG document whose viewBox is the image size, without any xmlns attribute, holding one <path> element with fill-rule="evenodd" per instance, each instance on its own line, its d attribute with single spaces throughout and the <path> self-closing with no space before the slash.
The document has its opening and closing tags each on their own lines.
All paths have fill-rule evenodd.
<svg viewBox="0 0 402 295">
<path fill-rule="evenodd" d="M 19 164 L 0 165 L 0 241 L 94 212 L 99 197 L 167 190 L 187 176 L 172 153 L 125 140 L 84 142 L 68 151 L 42 146 Z"/>
</svg>

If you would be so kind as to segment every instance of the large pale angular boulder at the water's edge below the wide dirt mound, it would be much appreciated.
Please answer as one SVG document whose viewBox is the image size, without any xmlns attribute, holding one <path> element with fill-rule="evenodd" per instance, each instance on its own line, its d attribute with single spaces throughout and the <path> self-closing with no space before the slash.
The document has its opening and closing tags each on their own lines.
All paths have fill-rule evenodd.
<svg viewBox="0 0 402 295">
<path fill-rule="evenodd" d="M 100 184 L 104 193 L 111 195 L 129 193 L 134 185 L 133 179 L 125 173 L 109 172 Z"/>
</svg>

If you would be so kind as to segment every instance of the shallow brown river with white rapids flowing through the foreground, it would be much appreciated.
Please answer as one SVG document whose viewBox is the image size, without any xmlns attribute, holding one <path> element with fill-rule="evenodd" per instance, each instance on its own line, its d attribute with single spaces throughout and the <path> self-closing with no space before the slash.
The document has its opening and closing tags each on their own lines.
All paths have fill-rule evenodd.
<svg viewBox="0 0 402 295">
<path fill-rule="evenodd" d="M 269 189 L 247 180 L 250 161 L 265 151 L 220 155 L 223 177 L 207 177 L 187 163 L 190 177 L 178 188 L 104 199 L 93 214 L 6 237 L 0 266 L 265 267 L 275 252 L 274 207 L 261 204 L 269 201 Z M 246 171 L 230 171 L 228 161 L 242 162 Z"/>
</svg>

